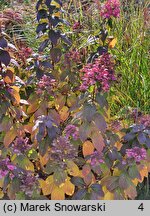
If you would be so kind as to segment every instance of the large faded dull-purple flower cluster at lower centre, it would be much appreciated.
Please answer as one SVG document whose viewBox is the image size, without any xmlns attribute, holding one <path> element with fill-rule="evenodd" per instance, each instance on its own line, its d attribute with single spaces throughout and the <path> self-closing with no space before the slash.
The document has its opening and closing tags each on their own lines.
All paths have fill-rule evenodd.
<svg viewBox="0 0 150 216">
<path fill-rule="evenodd" d="M 77 156 L 77 149 L 70 143 L 67 137 L 60 136 L 55 139 L 51 147 L 51 158 L 58 163 L 66 160 L 73 159 Z"/>
</svg>

